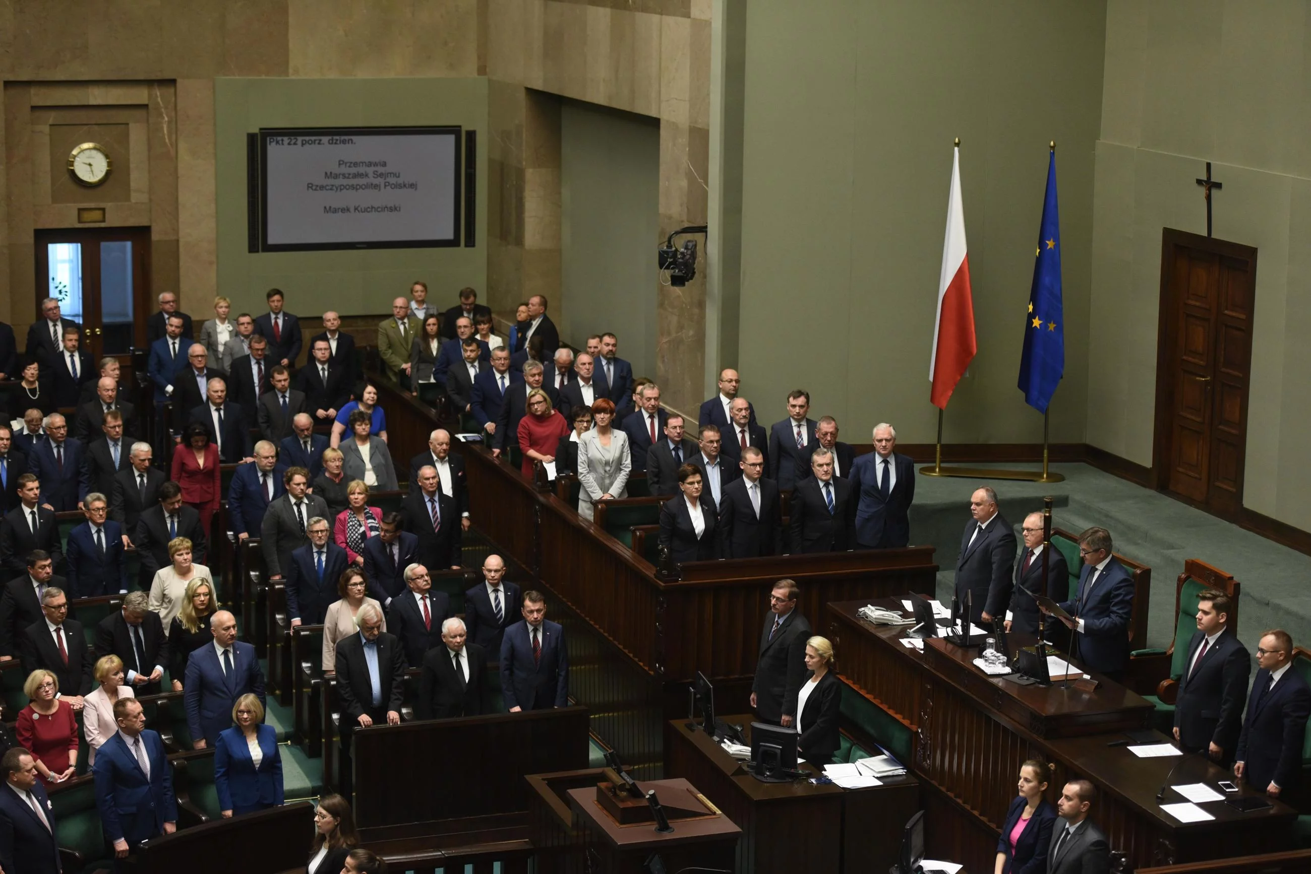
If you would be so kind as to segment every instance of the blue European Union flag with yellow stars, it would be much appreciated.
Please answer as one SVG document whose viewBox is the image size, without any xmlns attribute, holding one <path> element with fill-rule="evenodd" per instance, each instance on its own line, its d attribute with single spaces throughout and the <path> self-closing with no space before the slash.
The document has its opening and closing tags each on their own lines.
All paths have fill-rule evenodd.
<svg viewBox="0 0 1311 874">
<path fill-rule="evenodd" d="M 1061 216 L 1057 211 L 1057 153 L 1047 164 L 1047 194 L 1042 200 L 1042 231 L 1033 265 L 1029 312 L 1024 321 L 1020 390 L 1040 413 L 1065 375 L 1065 318 L 1061 311 Z"/>
</svg>

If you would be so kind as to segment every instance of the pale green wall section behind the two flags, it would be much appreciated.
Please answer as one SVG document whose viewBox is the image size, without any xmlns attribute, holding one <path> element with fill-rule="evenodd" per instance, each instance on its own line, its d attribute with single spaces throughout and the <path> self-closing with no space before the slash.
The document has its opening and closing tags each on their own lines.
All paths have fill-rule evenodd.
<svg viewBox="0 0 1311 874">
<path fill-rule="evenodd" d="M 745 18 L 737 335 L 762 422 L 783 418 L 801 387 L 850 442 L 889 421 L 901 440 L 932 443 L 928 359 L 958 136 L 979 354 L 944 438 L 1041 440 L 1016 376 L 1054 139 L 1067 366 L 1051 438 L 1083 440 L 1105 5 L 753 0 Z"/>
</svg>

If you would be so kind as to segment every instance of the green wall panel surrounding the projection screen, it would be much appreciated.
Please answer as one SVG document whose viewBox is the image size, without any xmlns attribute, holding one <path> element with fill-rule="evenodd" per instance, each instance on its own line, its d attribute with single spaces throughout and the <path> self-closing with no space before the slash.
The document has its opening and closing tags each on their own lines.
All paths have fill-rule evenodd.
<svg viewBox="0 0 1311 874">
<path fill-rule="evenodd" d="M 387 313 L 416 279 L 446 308 L 472 286 L 486 296 L 486 79 L 218 79 L 214 89 L 218 148 L 219 294 L 233 313 L 262 312 L 277 286 L 287 309 L 311 317 Z M 245 135 L 261 127 L 460 124 L 479 131 L 477 245 L 471 249 L 364 252 L 246 252 Z M 207 317 L 208 305 L 191 311 Z"/>
</svg>

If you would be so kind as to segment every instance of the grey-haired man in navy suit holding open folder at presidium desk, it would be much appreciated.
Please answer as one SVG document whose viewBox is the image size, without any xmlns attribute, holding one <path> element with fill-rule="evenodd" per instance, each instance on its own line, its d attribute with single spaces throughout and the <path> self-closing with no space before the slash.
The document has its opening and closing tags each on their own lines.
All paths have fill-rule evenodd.
<svg viewBox="0 0 1311 874">
<path fill-rule="evenodd" d="M 1075 660 L 1116 679 L 1129 664 L 1134 580 L 1112 552 L 1110 532 L 1105 528 L 1089 528 L 1079 535 L 1083 557 L 1079 590 L 1075 598 L 1061 604 L 1061 609 L 1075 618 L 1061 621 L 1076 632 L 1071 643 Z M 1013 548 L 1011 553 L 1013 558 Z"/>
</svg>

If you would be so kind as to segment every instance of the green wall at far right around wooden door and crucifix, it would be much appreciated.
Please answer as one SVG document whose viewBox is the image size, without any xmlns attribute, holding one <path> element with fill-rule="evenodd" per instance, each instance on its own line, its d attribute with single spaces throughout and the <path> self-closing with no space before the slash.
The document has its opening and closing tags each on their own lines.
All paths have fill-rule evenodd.
<svg viewBox="0 0 1311 874">
<path fill-rule="evenodd" d="M 1304 3 L 1112 0 L 1096 159 L 1088 442 L 1152 463 L 1163 227 L 1257 248 L 1243 502 L 1311 528 L 1311 24 Z"/>
</svg>

